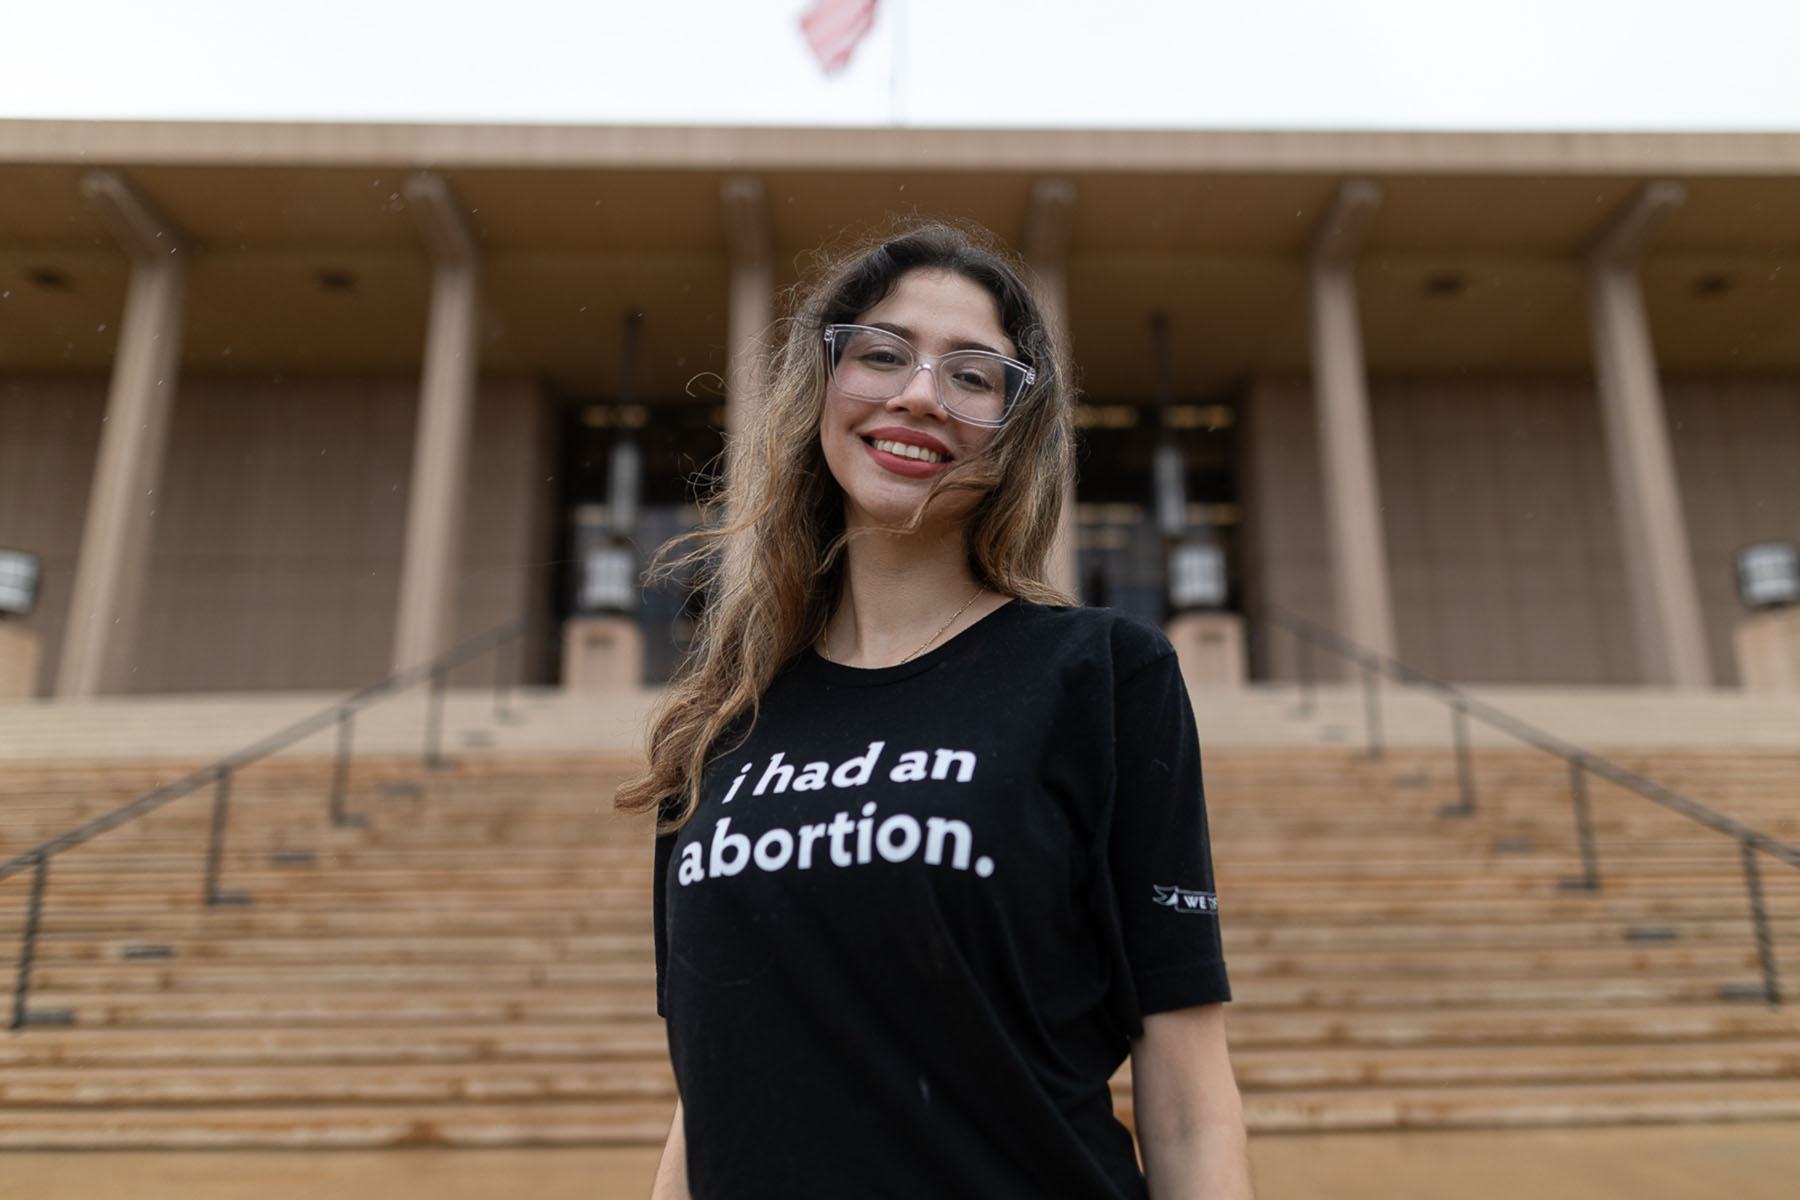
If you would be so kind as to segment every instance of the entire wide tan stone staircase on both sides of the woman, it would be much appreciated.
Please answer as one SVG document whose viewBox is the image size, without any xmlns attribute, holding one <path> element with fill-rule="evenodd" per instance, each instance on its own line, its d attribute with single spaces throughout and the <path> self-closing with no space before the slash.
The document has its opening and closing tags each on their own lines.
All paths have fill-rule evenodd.
<svg viewBox="0 0 1800 1200">
<path fill-rule="evenodd" d="M 1625 765 L 1800 840 L 1800 754 Z M 0 766 L 0 858 L 178 766 Z M 367 826 L 331 828 L 326 763 L 265 763 L 223 860 L 245 905 L 200 903 L 207 793 L 59 856 L 31 1011 L 72 1024 L 0 1036 L 0 1148 L 659 1141 L 650 831 L 610 813 L 628 766 L 365 761 Z M 1748 999 L 1733 844 L 1595 783 L 1604 887 L 1564 891 L 1566 774 L 1530 752 L 1481 750 L 1462 819 L 1436 750 L 1231 748 L 1206 772 L 1253 1128 L 1800 1119 L 1800 995 Z M 4 981 L 27 882 L 0 882 Z M 1800 871 L 1764 883 L 1800 993 Z"/>
</svg>

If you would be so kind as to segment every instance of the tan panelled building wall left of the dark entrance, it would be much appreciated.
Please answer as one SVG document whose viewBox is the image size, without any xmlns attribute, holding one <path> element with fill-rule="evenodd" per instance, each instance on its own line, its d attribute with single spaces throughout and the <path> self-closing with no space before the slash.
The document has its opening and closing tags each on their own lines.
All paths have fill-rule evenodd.
<svg viewBox="0 0 1800 1200">
<path fill-rule="evenodd" d="M 104 376 L 0 380 L 0 545 L 43 560 L 49 694 Z M 418 381 L 189 376 L 175 403 L 131 693 L 351 689 L 387 673 Z M 554 480 L 536 383 L 482 380 L 457 637 L 547 604 Z M 522 657 L 540 680 L 542 637 Z M 493 678 L 491 662 L 463 682 Z"/>
</svg>

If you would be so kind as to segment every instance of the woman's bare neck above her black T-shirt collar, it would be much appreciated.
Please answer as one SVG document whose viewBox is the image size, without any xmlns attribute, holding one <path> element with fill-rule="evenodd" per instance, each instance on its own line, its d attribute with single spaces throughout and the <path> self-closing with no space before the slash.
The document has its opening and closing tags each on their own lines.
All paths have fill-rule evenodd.
<svg viewBox="0 0 1800 1200">
<path fill-rule="evenodd" d="M 895 666 L 925 639 L 923 649 L 940 646 L 1004 603 L 981 596 L 945 626 L 976 592 L 961 529 L 864 531 L 844 547 L 844 590 L 826 624 L 826 655 L 846 666 Z"/>
</svg>

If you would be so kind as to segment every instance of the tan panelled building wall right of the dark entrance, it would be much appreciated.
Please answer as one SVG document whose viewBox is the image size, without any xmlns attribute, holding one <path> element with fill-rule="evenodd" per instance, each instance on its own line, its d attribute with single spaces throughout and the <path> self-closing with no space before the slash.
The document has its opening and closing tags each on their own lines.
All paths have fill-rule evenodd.
<svg viewBox="0 0 1800 1200">
<path fill-rule="evenodd" d="M 1665 387 L 1708 644 L 1735 684 L 1732 558 L 1800 538 L 1800 380 Z M 1249 590 L 1336 626 L 1310 394 L 1262 380 L 1247 403 Z M 1400 657 L 1460 682 L 1638 682 L 1591 381 L 1377 378 L 1370 403 Z M 1292 678 L 1291 639 L 1264 662 Z"/>
</svg>

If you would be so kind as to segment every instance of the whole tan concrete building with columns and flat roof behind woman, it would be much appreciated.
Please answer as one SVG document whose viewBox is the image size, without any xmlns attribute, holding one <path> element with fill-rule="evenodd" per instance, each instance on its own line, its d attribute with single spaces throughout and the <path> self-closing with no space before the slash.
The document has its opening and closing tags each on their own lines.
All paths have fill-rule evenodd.
<svg viewBox="0 0 1800 1200">
<path fill-rule="evenodd" d="M 1166 615 L 1172 443 L 1237 612 L 1458 682 L 1739 682 L 1733 554 L 1800 540 L 1800 135 L 14 121 L 36 694 L 351 687 L 520 615 L 554 682 L 614 446 L 653 549 L 806 252 L 905 214 L 1066 315 L 1089 601 Z M 655 678 L 679 597 L 641 622 Z"/>
</svg>

